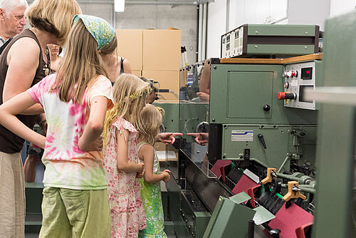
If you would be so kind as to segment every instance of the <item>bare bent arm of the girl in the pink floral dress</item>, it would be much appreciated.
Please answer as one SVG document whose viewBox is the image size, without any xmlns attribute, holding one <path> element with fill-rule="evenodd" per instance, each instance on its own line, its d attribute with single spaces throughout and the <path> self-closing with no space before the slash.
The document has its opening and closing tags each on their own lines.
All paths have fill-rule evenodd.
<svg viewBox="0 0 356 238">
<path fill-rule="evenodd" d="M 117 168 L 123 172 L 142 172 L 143 164 L 127 160 L 129 131 L 115 131 L 117 138 Z"/>
</svg>

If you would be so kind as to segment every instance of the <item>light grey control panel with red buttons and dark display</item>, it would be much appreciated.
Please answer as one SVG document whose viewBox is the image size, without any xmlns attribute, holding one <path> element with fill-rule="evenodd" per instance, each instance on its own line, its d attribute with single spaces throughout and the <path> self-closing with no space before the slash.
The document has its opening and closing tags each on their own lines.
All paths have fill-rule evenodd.
<svg viewBox="0 0 356 238">
<path fill-rule="evenodd" d="M 305 90 L 315 88 L 315 61 L 286 64 L 283 88 L 278 100 L 284 100 L 285 107 L 317 110 L 315 101 L 305 98 Z"/>
</svg>

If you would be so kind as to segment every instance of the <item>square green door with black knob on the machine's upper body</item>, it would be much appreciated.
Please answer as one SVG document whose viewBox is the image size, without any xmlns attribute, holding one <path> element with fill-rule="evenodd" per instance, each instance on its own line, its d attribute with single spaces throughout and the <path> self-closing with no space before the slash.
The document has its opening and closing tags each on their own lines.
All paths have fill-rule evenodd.
<svg viewBox="0 0 356 238">
<path fill-rule="evenodd" d="M 273 72 L 229 71 L 227 80 L 229 118 L 272 117 L 271 110 L 261 110 L 261 101 L 272 104 Z M 258 95 L 259 100 L 251 100 L 251 95 Z"/>
</svg>

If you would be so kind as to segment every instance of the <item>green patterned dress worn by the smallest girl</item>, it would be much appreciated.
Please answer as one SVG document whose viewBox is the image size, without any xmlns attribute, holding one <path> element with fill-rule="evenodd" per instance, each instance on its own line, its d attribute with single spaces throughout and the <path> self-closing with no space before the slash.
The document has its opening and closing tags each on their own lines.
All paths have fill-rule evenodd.
<svg viewBox="0 0 356 238">
<path fill-rule="evenodd" d="M 137 145 L 138 151 L 140 151 L 142 145 L 145 144 L 146 143 L 139 143 Z M 153 173 L 159 175 L 160 171 L 159 161 L 155 150 Z M 139 237 L 167 238 L 167 235 L 164 233 L 164 215 L 160 182 L 152 184 L 145 182 L 142 178 L 139 179 L 139 182 L 147 221 L 147 228 L 140 231 Z"/>
</svg>

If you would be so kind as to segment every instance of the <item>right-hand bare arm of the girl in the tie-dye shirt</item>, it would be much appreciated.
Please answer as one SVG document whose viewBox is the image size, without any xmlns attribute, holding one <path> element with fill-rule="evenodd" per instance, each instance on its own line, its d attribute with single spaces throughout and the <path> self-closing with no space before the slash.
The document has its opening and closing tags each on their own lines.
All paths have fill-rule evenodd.
<svg viewBox="0 0 356 238">
<path fill-rule="evenodd" d="M 93 98 L 90 106 L 90 114 L 87 125 L 85 125 L 83 135 L 78 140 L 80 150 L 90 151 L 103 133 L 104 120 L 108 98 L 104 96 L 96 96 Z"/>
</svg>

